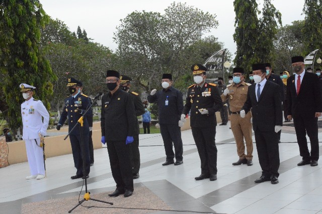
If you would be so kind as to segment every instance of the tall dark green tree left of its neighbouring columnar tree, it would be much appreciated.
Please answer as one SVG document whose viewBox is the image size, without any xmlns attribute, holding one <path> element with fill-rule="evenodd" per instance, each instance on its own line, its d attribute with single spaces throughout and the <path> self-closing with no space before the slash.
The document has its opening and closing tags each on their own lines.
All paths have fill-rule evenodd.
<svg viewBox="0 0 322 214">
<path fill-rule="evenodd" d="M 250 72 L 252 64 L 260 61 L 255 51 L 260 35 L 258 5 L 256 0 L 234 0 L 233 5 L 236 14 L 233 40 L 237 46 L 234 64 Z"/>
</svg>

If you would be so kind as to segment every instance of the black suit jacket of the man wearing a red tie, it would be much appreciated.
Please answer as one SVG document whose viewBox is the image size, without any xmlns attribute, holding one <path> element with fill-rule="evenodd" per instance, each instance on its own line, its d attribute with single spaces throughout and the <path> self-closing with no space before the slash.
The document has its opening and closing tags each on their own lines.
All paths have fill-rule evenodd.
<svg viewBox="0 0 322 214">
<path fill-rule="evenodd" d="M 315 112 L 322 112 L 320 83 L 316 74 L 305 72 L 300 91 L 296 95 L 295 75 L 287 79 L 287 115 L 293 117 L 314 117 Z"/>
</svg>

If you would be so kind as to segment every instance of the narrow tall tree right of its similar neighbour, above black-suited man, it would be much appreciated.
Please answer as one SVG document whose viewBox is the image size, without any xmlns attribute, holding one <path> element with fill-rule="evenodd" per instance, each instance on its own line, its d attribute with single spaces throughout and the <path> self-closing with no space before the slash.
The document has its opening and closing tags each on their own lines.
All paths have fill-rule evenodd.
<svg viewBox="0 0 322 214">
<path fill-rule="evenodd" d="M 255 52 L 261 62 L 273 64 L 276 58 L 274 41 L 278 32 L 278 24 L 282 25 L 282 20 L 281 13 L 271 4 L 271 0 L 264 0 L 263 13 L 259 23 L 259 39 Z"/>
</svg>

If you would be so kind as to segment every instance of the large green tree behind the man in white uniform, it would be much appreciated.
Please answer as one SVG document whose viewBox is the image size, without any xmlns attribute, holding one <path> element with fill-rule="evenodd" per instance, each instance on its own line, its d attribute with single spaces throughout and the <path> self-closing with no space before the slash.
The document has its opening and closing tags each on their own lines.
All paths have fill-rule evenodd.
<svg viewBox="0 0 322 214">
<path fill-rule="evenodd" d="M 0 71 L 5 77 L 0 85 L 8 104 L 4 115 L 14 132 L 22 124 L 21 83 L 34 85 L 35 97 L 42 100 L 47 109 L 50 107 L 51 82 L 56 77 L 38 50 L 40 29 L 46 22 L 48 16 L 38 0 L 3 0 L 0 3 Z"/>
</svg>

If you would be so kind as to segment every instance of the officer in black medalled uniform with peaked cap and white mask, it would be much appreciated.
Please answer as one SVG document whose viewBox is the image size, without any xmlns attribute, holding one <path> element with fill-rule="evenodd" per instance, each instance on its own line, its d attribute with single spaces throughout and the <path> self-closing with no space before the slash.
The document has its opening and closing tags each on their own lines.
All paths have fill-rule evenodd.
<svg viewBox="0 0 322 214">
<path fill-rule="evenodd" d="M 190 126 L 201 160 L 201 174 L 196 180 L 210 178 L 217 179 L 217 147 L 215 144 L 216 115 L 215 112 L 222 108 L 222 101 L 217 86 L 207 83 L 207 69 L 195 64 L 191 67 L 194 75 L 193 84 L 188 89 L 186 105 L 181 119 L 191 110 Z"/>
</svg>

